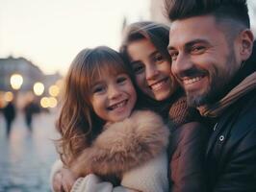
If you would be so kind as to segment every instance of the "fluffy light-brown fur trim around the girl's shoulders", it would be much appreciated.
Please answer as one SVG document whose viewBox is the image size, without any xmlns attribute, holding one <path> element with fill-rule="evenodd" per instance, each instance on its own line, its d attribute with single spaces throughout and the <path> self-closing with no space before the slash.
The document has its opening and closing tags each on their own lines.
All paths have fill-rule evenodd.
<svg viewBox="0 0 256 192">
<path fill-rule="evenodd" d="M 166 125 L 149 110 L 136 110 L 129 118 L 104 129 L 71 165 L 74 173 L 120 175 L 158 156 L 168 144 Z"/>
</svg>

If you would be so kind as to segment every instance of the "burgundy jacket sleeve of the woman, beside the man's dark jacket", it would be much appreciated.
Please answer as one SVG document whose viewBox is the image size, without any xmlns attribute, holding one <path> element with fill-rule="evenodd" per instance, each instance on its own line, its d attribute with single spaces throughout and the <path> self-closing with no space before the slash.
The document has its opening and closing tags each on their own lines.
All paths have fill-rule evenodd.
<svg viewBox="0 0 256 192">
<path fill-rule="evenodd" d="M 209 131 L 191 122 L 171 132 L 169 144 L 170 191 L 204 192 L 204 155 Z"/>
</svg>

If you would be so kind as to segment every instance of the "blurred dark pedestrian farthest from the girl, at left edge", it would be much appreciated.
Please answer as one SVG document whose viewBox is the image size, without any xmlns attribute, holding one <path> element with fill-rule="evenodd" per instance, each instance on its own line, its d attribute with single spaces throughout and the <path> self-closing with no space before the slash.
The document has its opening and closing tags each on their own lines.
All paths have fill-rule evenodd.
<svg viewBox="0 0 256 192">
<path fill-rule="evenodd" d="M 12 129 L 13 120 L 16 115 L 15 106 L 12 101 L 3 108 L 3 114 L 6 120 L 7 135 L 9 136 Z"/>
</svg>

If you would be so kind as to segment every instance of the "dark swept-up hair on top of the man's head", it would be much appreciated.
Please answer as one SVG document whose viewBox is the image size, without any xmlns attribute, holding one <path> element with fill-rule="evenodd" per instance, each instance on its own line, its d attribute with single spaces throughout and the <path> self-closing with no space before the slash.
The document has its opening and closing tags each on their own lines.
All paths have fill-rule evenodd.
<svg viewBox="0 0 256 192">
<path fill-rule="evenodd" d="M 209 14 L 250 28 L 246 0 L 166 0 L 166 13 L 170 21 Z"/>
</svg>

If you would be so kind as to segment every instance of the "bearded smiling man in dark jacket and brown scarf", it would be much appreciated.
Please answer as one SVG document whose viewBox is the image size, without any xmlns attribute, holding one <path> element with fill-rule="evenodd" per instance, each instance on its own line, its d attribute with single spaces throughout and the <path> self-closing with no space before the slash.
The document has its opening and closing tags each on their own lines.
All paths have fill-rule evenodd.
<svg viewBox="0 0 256 192">
<path fill-rule="evenodd" d="M 256 191 L 256 50 L 246 0 L 166 0 L 172 72 L 214 122 L 208 191 Z M 252 53 L 255 52 L 255 53 Z"/>
</svg>

